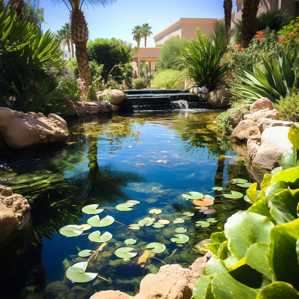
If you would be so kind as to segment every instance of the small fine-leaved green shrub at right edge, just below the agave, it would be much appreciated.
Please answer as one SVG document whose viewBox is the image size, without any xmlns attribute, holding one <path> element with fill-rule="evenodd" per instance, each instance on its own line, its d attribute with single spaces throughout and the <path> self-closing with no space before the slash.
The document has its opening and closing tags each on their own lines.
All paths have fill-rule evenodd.
<svg viewBox="0 0 299 299">
<path fill-rule="evenodd" d="M 299 121 L 299 94 L 294 92 L 287 94 L 286 97 L 280 97 L 280 100 L 274 104 L 278 111 L 280 120 Z"/>
</svg>

